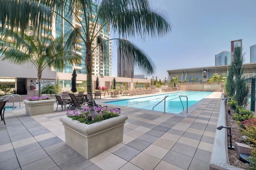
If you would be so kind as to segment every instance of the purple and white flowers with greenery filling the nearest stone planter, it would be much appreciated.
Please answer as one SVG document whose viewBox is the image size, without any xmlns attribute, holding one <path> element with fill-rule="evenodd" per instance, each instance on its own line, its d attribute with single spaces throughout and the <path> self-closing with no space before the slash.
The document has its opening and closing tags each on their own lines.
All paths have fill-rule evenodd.
<svg viewBox="0 0 256 170">
<path fill-rule="evenodd" d="M 80 110 L 68 110 L 67 115 L 73 120 L 80 121 L 81 123 L 92 124 L 112 117 L 118 117 L 120 114 L 120 109 L 118 108 L 107 109 L 107 107 L 100 108 L 97 106 L 94 106 L 94 108 L 97 112 L 94 117 L 90 115 L 89 107 L 84 107 L 84 109 Z"/>
</svg>

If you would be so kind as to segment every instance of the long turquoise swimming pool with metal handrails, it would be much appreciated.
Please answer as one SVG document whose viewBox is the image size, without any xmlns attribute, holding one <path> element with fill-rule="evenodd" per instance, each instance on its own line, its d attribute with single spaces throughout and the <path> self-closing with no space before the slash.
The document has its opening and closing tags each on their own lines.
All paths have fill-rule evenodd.
<svg viewBox="0 0 256 170">
<path fill-rule="evenodd" d="M 161 94 L 156 96 L 128 99 L 128 100 L 118 100 L 114 102 L 105 102 L 108 104 L 118 105 L 118 106 L 128 106 L 135 107 L 140 109 L 148 109 L 152 110 L 152 108 L 158 104 L 161 100 L 164 99 L 164 96 L 168 96 L 166 98 L 166 107 L 165 111 L 168 113 L 180 113 L 183 111 L 182 104 L 180 102 L 179 94 L 181 96 L 188 97 L 188 107 L 202 100 L 212 92 L 200 92 L 200 91 L 183 91 L 183 92 L 175 92 L 170 94 Z M 187 108 L 186 106 L 186 97 L 181 97 L 184 110 Z M 154 107 L 156 111 L 164 111 L 164 101 Z"/>
</svg>

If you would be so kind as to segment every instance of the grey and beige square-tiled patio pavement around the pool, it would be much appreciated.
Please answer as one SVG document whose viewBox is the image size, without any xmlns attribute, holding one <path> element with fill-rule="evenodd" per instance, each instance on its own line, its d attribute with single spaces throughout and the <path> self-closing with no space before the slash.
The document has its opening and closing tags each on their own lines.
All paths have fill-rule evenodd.
<svg viewBox="0 0 256 170">
<path fill-rule="evenodd" d="M 141 96 L 147 95 L 118 99 Z M 0 121 L 0 170 L 208 170 L 220 98 L 213 92 L 180 114 L 120 106 L 128 116 L 123 142 L 90 160 L 65 144 L 66 109 L 55 104 L 54 113 L 30 117 L 22 102 L 5 112 L 6 125 Z"/>
</svg>

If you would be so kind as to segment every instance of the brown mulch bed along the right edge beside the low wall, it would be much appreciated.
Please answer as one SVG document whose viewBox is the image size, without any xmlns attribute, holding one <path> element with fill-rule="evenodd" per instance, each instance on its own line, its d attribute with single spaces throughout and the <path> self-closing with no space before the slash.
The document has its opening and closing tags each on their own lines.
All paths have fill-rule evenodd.
<svg viewBox="0 0 256 170">
<path fill-rule="evenodd" d="M 235 142 L 242 143 L 241 140 L 243 135 L 241 135 L 240 133 L 241 130 L 236 120 L 233 119 L 233 116 L 235 114 L 234 110 L 230 109 L 230 114 L 228 114 L 228 109 L 230 108 L 227 104 L 226 105 L 226 123 L 227 123 L 227 126 L 231 127 L 232 146 L 235 146 Z M 228 158 L 229 158 L 230 165 L 236 166 L 238 168 L 249 169 L 248 164 L 239 160 L 239 156 L 235 150 L 228 149 Z"/>
</svg>

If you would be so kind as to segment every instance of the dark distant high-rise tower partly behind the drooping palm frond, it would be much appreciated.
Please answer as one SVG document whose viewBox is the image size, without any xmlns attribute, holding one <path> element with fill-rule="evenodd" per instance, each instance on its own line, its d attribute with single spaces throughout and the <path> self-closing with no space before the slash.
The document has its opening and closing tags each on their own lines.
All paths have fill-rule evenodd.
<svg viewBox="0 0 256 170">
<path fill-rule="evenodd" d="M 117 76 L 134 78 L 132 54 L 128 48 L 118 47 L 117 55 Z"/>
</svg>

